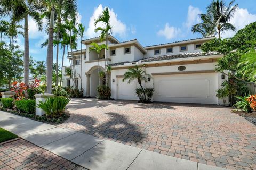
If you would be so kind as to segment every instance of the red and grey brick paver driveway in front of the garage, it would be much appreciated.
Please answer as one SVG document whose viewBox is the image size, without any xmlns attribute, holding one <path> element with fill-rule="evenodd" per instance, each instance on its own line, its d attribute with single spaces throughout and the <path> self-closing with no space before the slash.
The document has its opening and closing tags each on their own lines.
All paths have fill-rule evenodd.
<svg viewBox="0 0 256 170">
<path fill-rule="evenodd" d="M 228 169 L 256 169 L 256 126 L 230 108 L 73 99 L 60 125 L 161 154 Z"/>
</svg>

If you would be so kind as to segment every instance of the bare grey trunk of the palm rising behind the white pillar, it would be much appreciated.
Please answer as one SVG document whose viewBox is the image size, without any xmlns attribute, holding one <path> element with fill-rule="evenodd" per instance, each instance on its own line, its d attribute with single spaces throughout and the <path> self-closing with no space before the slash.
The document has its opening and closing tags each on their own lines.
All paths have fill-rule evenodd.
<svg viewBox="0 0 256 170">
<path fill-rule="evenodd" d="M 48 48 L 47 48 L 47 71 L 46 71 L 46 82 L 47 82 L 47 93 L 52 92 L 52 64 L 53 64 L 53 27 L 54 27 L 54 13 L 55 9 L 52 5 L 51 7 L 51 18 L 49 25 L 49 35 L 48 35 Z"/>
</svg>

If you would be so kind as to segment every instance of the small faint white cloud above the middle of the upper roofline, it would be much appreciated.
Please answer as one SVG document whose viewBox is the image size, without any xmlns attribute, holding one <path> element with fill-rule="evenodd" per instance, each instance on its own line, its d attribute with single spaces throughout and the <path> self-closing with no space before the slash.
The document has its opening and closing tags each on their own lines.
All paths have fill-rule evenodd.
<svg viewBox="0 0 256 170">
<path fill-rule="evenodd" d="M 165 24 L 165 28 L 157 32 L 157 35 L 164 36 L 166 39 L 172 39 L 177 37 L 181 33 L 180 28 L 170 27 L 169 23 Z"/>
</svg>

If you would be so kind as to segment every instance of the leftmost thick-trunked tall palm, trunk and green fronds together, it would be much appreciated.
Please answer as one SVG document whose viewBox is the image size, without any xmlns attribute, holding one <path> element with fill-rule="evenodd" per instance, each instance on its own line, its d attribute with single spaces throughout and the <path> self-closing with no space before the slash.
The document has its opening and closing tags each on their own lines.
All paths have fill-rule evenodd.
<svg viewBox="0 0 256 170">
<path fill-rule="evenodd" d="M 10 16 L 14 22 L 24 20 L 24 82 L 28 84 L 29 79 L 29 35 L 28 16 L 34 19 L 38 30 L 42 31 L 41 12 L 44 10 L 43 2 L 40 0 L 1 0 L 0 16 Z"/>
</svg>

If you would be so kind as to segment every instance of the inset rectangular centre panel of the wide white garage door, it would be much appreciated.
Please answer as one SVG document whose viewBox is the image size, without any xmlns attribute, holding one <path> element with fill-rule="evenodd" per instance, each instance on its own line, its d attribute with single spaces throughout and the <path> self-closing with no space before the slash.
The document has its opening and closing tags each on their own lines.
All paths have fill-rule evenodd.
<svg viewBox="0 0 256 170">
<path fill-rule="evenodd" d="M 160 80 L 157 83 L 160 97 L 207 98 L 210 96 L 210 80 L 208 79 L 172 79 Z"/>
</svg>

